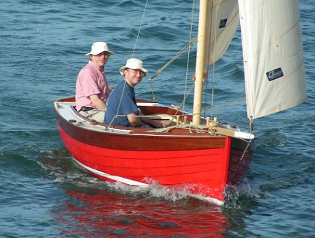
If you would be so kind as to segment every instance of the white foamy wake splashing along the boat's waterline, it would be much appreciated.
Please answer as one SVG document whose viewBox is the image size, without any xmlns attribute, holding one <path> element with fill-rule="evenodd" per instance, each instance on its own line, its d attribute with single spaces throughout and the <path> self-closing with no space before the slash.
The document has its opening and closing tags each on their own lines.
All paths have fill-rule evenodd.
<svg viewBox="0 0 315 238">
<path fill-rule="evenodd" d="M 86 193 L 94 193 L 95 190 L 119 194 L 132 199 L 165 200 L 170 202 L 202 200 L 222 205 L 217 200 L 209 199 L 201 195 L 192 195 L 189 191 L 195 186 L 186 184 L 182 186 L 162 186 L 157 181 L 145 179 L 146 187 L 130 186 L 120 182 L 107 182 L 96 179 L 73 163 L 71 155 L 67 151 L 48 151 L 41 155 L 38 164 L 44 169 L 44 178 L 55 183 L 62 184 L 64 188 L 83 190 Z M 239 197 L 250 196 L 248 184 L 241 183 L 237 186 L 228 186 L 225 190 L 228 204 L 235 203 Z M 226 203 L 225 203 L 226 204 Z M 230 205 L 229 205 L 230 206 Z"/>
</svg>

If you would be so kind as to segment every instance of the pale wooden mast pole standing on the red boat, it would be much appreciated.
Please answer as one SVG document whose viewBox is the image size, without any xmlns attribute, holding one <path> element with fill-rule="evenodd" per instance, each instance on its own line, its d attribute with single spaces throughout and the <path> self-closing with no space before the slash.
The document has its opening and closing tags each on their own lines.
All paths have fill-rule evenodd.
<svg viewBox="0 0 315 238">
<path fill-rule="evenodd" d="M 197 57 L 195 71 L 195 95 L 193 106 L 193 125 L 199 125 L 201 122 L 202 109 L 202 83 L 204 78 L 204 61 L 207 38 L 207 11 L 209 0 L 200 0 L 198 38 L 197 38 Z"/>
</svg>

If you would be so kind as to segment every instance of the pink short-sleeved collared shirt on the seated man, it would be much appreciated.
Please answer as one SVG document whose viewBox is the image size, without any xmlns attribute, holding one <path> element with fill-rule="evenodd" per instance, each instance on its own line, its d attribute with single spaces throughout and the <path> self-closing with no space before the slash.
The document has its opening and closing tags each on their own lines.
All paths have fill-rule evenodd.
<svg viewBox="0 0 315 238">
<path fill-rule="evenodd" d="M 90 100 L 90 96 L 94 94 L 98 94 L 99 98 L 106 103 L 110 89 L 104 67 L 89 61 L 80 70 L 76 80 L 76 110 L 80 111 L 83 106 L 95 107 Z"/>
</svg>

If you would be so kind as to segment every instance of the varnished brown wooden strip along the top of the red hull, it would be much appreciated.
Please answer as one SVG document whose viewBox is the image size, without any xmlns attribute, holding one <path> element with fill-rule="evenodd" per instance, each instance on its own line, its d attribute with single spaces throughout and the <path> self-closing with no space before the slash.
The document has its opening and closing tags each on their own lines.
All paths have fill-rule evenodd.
<svg viewBox="0 0 315 238">
<path fill-rule="evenodd" d="M 209 148 L 224 148 L 227 137 L 211 137 L 209 134 L 176 134 L 146 132 L 147 129 L 134 130 L 130 134 L 117 134 L 87 130 L 77 123 L 64 120 L 59 113 L 56 113 L 57 125 L 69 134 L 70 137 L 84 144 L 97 146 L 100 148 L 115 149 L 118 146 L 125 151 L 186 151 L 203 150 Z M 145 134 L 139 134 L 142 132 Z M 193 138 L 192 138 L 193 137 Z M 165 142 L 167 140 L 167 143 Z M 132 141 L 132 143 L 131 143 Z"/>
</svg>

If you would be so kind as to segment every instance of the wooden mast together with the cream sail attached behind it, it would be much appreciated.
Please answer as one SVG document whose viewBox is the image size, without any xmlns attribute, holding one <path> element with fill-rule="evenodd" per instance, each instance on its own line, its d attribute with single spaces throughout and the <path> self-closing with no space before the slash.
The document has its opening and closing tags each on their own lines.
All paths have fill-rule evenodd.
<svg viewBox="0 0 315 238">
<path fill-rule="evenodd" d="M 198 23 L 196 80 L 193 124 L 200 124 L 202 82 L 208 66 L 218 61 L 228 49 L 239 25 L 237 0 L 201 0 Z"/>
</svg>

